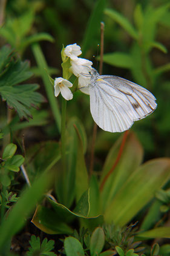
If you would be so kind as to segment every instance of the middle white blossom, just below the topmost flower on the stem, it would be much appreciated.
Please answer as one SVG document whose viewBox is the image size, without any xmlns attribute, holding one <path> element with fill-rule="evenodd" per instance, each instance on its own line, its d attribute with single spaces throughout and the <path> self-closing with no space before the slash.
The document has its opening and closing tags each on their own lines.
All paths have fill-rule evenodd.
<svg viewBox="0 0 170 256">
<path fill-rule="evenodd" d="M 90 76 L 90 71 L 92 70 L 91 65 L 93 62 L 88 61 L 88 59 L 71 59 L 71 70 L 75 76 Z"/>
</svg>

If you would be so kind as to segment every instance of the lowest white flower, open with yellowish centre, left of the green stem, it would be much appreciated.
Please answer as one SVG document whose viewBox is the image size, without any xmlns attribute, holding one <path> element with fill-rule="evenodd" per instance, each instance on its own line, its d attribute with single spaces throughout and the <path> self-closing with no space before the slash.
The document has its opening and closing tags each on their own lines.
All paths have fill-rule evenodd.
<svg viewBox="0 0 170 256">
<path fill-rule="evenodd" d="M 55 78 L 54 95 L 57 97 L 59 93 L 61 93 L 63 98 L 67 99 L 67 101 L 73 99 L 73 93 L 68 88 L 72 86 L 73 84 L 71 84 L 67 79 L 64 79 L 62 77 Z"/>
</svg>

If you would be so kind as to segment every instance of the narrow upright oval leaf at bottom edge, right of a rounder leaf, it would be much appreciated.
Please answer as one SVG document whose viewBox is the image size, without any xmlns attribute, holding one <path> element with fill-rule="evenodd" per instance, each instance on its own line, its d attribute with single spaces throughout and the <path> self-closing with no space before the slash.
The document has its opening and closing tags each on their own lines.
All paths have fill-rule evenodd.
<svg viewBox="0 0 170 256">
<path fill-rule="evenodd" d="M 91 256 L 97 256 L 100 254 L 100 252 L 103 249 L 103 246 L 105 244 L 105 234 L 101 227 L 97 227 L 90 239 L 90 255 Z"/>
</svg>

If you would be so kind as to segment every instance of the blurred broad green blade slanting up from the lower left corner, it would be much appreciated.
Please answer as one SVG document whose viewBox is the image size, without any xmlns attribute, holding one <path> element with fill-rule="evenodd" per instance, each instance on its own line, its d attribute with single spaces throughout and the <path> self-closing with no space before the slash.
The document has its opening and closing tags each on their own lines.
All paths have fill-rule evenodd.
<svg viewBox="0 0 170 256">
<path fill-rule="evenodd" d="M 20 231 L 33 211 L 44 192 L 51 185 L 50 173 L 43 173 L 33 185 L 22 192 L 18 202 L 13 206 L 7 218 L 4 218 L 0 227 L 0 248 L 5 246 L 8 240 Z"/>
</svg>

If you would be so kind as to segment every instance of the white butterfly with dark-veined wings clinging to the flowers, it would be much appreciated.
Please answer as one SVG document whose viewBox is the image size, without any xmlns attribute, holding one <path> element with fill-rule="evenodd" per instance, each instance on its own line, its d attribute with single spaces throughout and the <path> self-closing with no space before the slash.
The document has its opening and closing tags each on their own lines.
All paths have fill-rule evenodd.
<svg viewBox="0 0 170 256">
<path fill-rule="evenodd" d="M 151 92 L 119 76 L 90 72 L 90 110 L 96 124 L 108 132 L 128 130 L 134 121 L 157 107 Z"/>
</svg>

